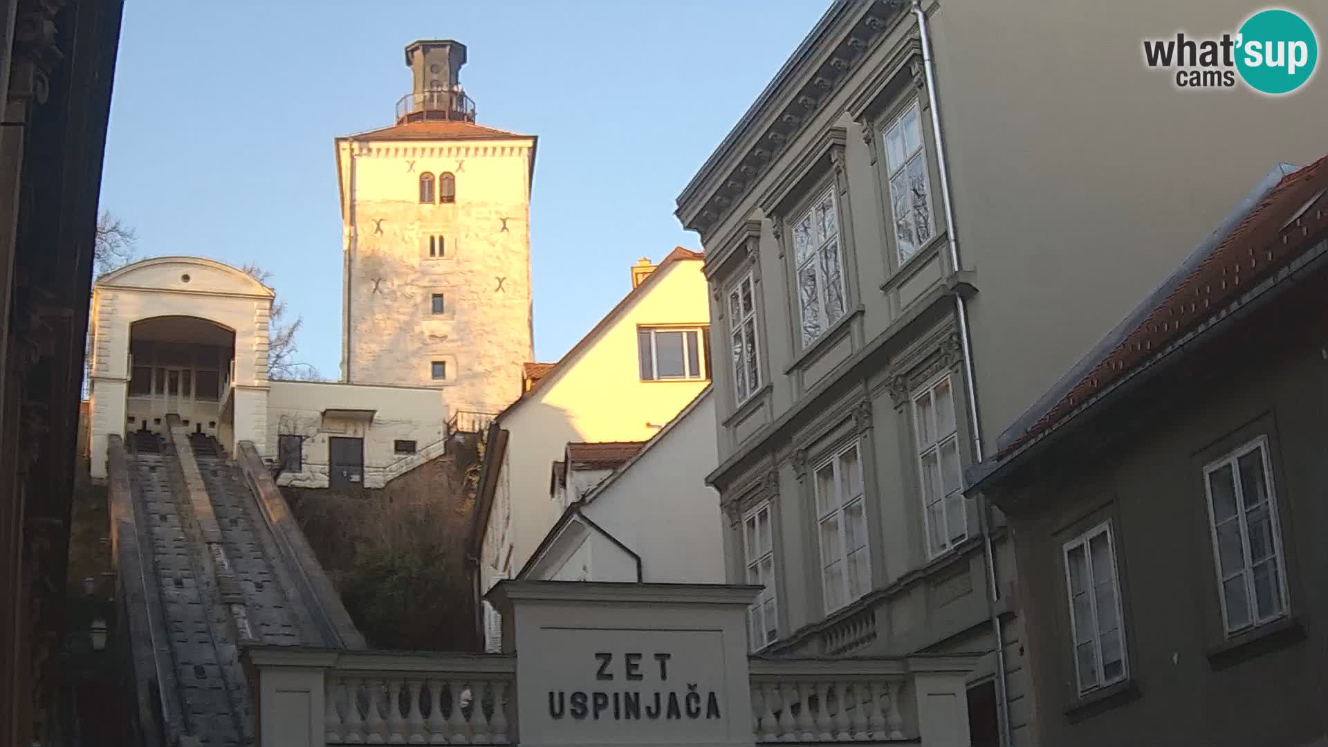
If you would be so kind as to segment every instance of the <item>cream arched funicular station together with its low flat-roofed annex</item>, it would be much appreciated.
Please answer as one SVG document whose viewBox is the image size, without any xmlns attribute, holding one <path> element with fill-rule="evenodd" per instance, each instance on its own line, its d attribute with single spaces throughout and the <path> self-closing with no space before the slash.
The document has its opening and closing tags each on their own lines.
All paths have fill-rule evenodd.
<svg viewBox="0 0 1328 747">
<path fill-rule="evenodd" d="M 442 453 L 446 407 L 432 387 L 274 381 L 274 292 L 198 257 L 158 257 L 100 278 L 92 296 L 92 475 L 108 440 L 165 437 L 167 416 L 228 455 L 242 441 L 300 488 L 381 488 Z"/>
</svg>

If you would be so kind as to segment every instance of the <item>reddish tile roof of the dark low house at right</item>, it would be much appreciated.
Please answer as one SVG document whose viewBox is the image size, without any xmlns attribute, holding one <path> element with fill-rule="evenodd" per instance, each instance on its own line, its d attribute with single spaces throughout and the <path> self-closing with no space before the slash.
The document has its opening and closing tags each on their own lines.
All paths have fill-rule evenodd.
<svg viewBox="0 0 1328 747">
<path fill-rule="evenodd" d="M 1068 420 L 1074 411 L 1300 255 L 1328 227 L 1328 156 L 1287 174 L 1203 262 L 1068 393 L 996 459 Z"/>
</svg>

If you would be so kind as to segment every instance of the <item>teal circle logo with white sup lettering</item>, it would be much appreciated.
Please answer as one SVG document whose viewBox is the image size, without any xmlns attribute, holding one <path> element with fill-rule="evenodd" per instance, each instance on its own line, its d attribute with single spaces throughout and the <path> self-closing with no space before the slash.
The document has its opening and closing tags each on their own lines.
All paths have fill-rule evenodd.
<svg viewBox="0 0 1328 747">
<path fill-rule="evenodd" d="M 1260 93 L 1291 93 L 1315 72 L 1319 40 L 1315 29 L 1291 11 L 1260 11 L 1240 27 L 1236 69 Z"/>
</svg>

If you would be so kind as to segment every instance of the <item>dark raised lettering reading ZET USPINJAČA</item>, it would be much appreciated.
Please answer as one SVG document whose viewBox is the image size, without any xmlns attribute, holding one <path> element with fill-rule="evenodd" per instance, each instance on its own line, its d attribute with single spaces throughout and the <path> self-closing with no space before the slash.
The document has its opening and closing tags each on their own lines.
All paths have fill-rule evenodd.
<svg viewBox="0 0 1328 747">
<path fill-rule="evenodd" d="M 576 720 L 718 719 L 720 698 L 696 682 L 669 681 L 673 654 L 596 651 L 595 690 L 550 690 L 548 718 Z M 603 683 L 603 685 L 600 685 Z"/>
</svg>

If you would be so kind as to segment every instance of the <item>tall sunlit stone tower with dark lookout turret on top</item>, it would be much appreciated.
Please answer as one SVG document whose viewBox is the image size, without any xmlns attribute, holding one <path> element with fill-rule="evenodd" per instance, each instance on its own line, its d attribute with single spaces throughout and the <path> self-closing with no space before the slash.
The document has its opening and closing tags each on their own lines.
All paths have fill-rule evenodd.
<svg viewBox="0 0 1328 747">
<path fill-rule="evenodd" d="M 405 52 L 413 88 L 394 124 L 336 141 L 341 380 L 438 387 L 458 419 L 495 413 L 533 360 L 535 137 L 475 122 L 465 45 Z"/>
</svg>

